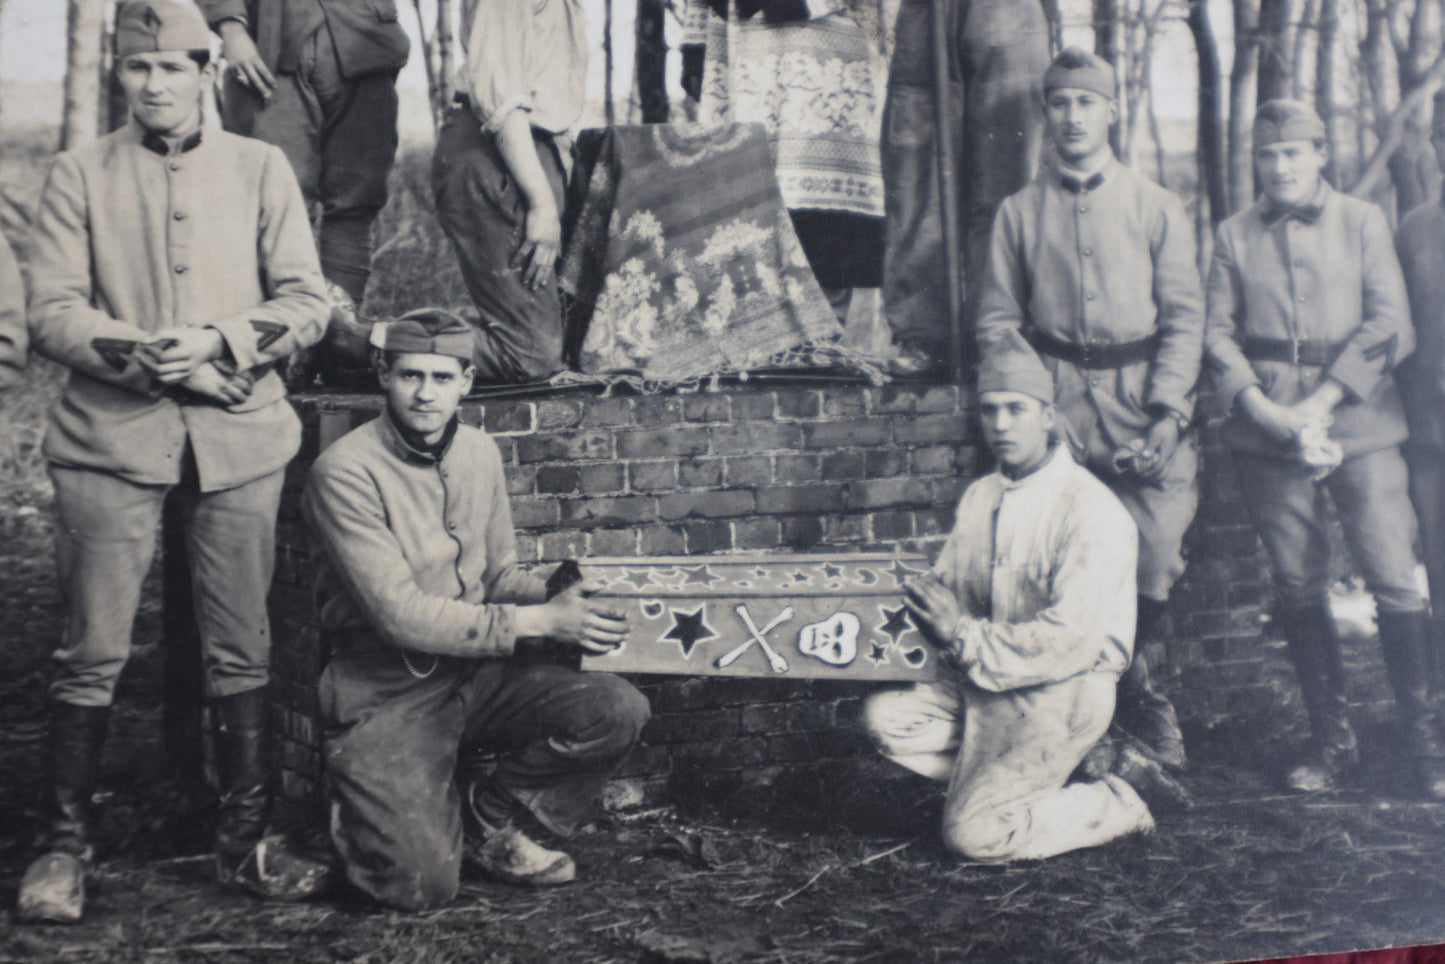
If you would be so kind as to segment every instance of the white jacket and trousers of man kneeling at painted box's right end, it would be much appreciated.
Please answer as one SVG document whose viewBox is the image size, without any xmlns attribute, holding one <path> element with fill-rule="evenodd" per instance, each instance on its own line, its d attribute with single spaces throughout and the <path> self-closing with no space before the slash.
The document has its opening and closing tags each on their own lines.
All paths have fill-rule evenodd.
<svg viewBox="0 0 1445 964">
<path fill-rule="evenodd" d="M 964 491 L 933 572 L 962 672 L 868 702 L 884 754 L 949 780 L 944 837 L 975 860 L 1095 847 L 1153 825 L 1117 776 L 1065 780 L 1108 728 L 1134 639 L 1134 526 L 1059 447 Z"/>
</svg>

